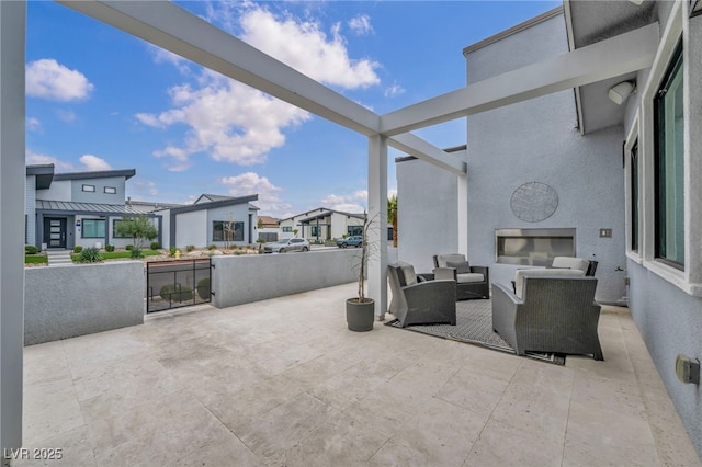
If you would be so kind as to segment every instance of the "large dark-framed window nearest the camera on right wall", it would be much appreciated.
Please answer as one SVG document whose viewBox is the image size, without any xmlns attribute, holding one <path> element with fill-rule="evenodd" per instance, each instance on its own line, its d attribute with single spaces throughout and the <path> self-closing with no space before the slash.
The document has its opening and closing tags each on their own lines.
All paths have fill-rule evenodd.
<svg viewBox="0 0 702 467">
<path fill-rule="evenodd" d="M 656 118 L 656 258 L 684 269 L 684 123 L 682 42 L 654 100 Z"/>
</svg>

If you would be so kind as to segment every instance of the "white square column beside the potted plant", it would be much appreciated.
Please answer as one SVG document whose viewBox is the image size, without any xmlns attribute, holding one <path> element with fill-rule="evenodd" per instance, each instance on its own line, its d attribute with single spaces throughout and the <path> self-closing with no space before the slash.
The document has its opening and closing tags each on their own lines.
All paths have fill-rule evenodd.
<svg viewBox="0 0 702 467">
<path fill-rule="evenodd" d="M 375 317 L 382 321 L 387 311 L 387 139 L 369 137 L 369 297 L 375 300 Z"/>
</svg>

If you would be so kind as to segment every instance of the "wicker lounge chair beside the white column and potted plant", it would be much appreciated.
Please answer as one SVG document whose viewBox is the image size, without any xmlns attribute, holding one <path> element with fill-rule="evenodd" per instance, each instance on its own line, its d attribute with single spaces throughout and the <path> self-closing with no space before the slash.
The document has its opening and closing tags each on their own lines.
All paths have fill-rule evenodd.
<svg viewBox="0 0 702 467">
<path fill-rule="evenodd" d="M 393 300 L 389 311 L 403 328 L 410 324 L 456 323 L 456 284 L 453 280 L 420 281 L 405 262 L 387 266 Z"/>
</svg>

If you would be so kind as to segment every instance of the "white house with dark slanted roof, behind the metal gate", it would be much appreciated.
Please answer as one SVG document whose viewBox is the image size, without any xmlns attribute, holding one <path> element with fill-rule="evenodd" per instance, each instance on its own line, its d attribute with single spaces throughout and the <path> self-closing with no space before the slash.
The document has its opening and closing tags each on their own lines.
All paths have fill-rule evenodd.
<svg viewBox="0 0 702 467">
<path fill-rule="evenodd" d="M 246 246 L 258 238 L 259 196 L 202 195 L 194 204 L 159 209 L 163 219 L 163 246 L 205 248 L 211 244 Z"/>
</svg>

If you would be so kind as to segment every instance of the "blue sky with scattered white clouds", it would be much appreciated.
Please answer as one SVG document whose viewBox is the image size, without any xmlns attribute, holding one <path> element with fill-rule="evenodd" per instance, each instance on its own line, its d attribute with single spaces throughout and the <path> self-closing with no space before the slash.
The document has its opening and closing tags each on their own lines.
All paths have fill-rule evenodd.
<svg viewBox="0 0 702 467">
<path fill-rule="evenodd" d="M 464 47 L 561 4 L 177 3 L 378 114 L 465 86 Z M 280 218 L 367 205 L 365 137 L 60 4 L 27 4 L 26 77 L 27 163 L 136 169 L 139 201 L 258 193 L 260 214 Z M 417 132 L 444 148 L 465 133 L 464 121 Z"/>
</svg>

